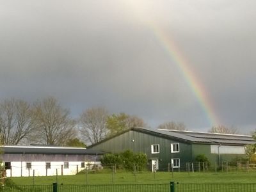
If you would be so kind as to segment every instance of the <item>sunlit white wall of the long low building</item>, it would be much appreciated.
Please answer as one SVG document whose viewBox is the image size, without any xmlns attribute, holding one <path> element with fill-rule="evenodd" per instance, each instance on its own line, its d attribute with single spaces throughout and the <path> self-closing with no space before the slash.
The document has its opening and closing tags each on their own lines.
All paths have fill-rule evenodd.
<svg viewBox="0 0 256 192">
<path fill-rule="evenodd" d="M 84 170 L 84 168 L 81 168 L 81 161 L 68 162 L 68 168 L 64 168 L 64 162 L 53 161 L 51 162 L 51 168 L 47 169 L 47 171 L 45 168 L 45 161 L 29 162 L 31 163 L 31 169 L 26 168 L 26 163 L 27 162 L 12 161 L 12 177 L 31 177 L 33 176 L 33 170 L 35 171 L 35 176 L 46 176 L 46 174 L 47 176 L 51 176 L 56 175 L 57 172 L 58 175 L 61 175 L 61 165 L 63 166 L 63 175 L 75 175 L 77 173 L 77 168 L 78 172 Z M 84 162 L 84 164 L 85 168 L 87 167 L 89 169 L 89 166 L 87 165 L 88 162 Z M 100 164 L 100 162 L 95 162 L 95 164 Z M 90 168 L 92 168 L 92 166 Z M 11 170 L 6 170 L 6 176 L 11 177 Z"/>
</svg>

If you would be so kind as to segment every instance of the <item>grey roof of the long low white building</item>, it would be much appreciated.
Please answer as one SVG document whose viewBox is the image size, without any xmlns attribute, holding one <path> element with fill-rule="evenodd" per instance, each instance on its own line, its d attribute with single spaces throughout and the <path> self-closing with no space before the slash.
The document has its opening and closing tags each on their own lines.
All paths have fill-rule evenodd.
<svg viewBox="0 0 256 192">
<path fill-rule="evenodd" d="M 19 146 L 3 145 L 1 150 L 4 154 L 73 154 L 73 155 L 100 155 L 104 154 L 86 148 L 76 147 L 50 147 L 50 146 Z"/>
</svg>

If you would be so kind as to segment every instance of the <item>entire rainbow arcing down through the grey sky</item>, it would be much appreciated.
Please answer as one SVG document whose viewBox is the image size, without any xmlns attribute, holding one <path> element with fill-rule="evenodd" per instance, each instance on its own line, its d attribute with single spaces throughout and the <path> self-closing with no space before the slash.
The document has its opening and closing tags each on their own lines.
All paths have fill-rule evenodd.
<svg viewBox="0 0 256 192">
<path fill-rule="evenodd" d="M 213 107 L 214 104 L 211 102 L 209 95 L 207 95 L 207 91 L 200 79 L 196 77 L 196 73 L 189 67 L 188 61 L 186 61 L 185 57 L 179 51 L 178 46 L 172 41 L 170 35 L 156 24 L 156 20 L 154 20 L 153 17 L 150 17 L 148 10 L 150 10 L 152 6 L 154 5 L 148 3 L 146 0 L 129 0 L 125 1 L 124 7 L 129 8 L 129 13 L 131 13 L 132 10 L 132 15 L 130 15 L 131 19 L 136 19 L 137 22 L 142 22 L 154 33 L 157 42 L 164 47 L 166 53 L 170 56 L 170 59 L 174 61 L 175 65 L 180 70 L 180 73 L 183 75 L 184 79 L 186 79 L 189 88 L 202 106 L 209 122 L 209 126 L 220 125 L 220 120 Z"/>
</svg>

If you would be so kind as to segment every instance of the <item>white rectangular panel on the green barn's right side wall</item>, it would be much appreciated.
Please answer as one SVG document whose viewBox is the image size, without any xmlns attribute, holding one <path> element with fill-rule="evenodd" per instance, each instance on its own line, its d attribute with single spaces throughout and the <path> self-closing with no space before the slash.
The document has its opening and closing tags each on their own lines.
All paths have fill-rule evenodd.
<svg viewBox="0 0 256 192">
<path fill-rule="evenodd" d="M 244 154 L 243 146 L 211 145 L 211 154 Z"/>
</svg>

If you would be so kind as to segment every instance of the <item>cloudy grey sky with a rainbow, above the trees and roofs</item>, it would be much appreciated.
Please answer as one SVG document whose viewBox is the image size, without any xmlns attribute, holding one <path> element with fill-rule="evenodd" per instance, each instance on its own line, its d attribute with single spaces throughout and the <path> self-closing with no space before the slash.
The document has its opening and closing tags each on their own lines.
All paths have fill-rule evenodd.
<svg viewBox="0 0 256 192">
<path fill-rule="evenodd" d="M 0 0 L 0 100 L 256 127 L 256 1 Z"/>
</svg>

